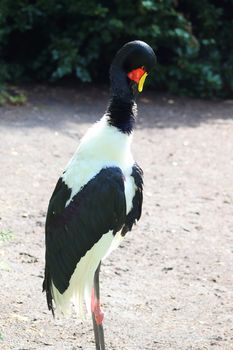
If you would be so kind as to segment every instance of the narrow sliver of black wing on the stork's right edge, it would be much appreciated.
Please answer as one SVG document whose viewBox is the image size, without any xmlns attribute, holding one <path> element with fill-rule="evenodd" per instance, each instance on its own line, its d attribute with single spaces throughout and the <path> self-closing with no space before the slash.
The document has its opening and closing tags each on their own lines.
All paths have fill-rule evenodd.
<svg viewBox="0 0 233 350">
<path fill-rule="evenodd" d="M 128 231 L 131 231 L 132 226 L 139 220 L 142 213 L 143 202 L 143 171 L 138 164 L 135 163 L 132 169 L 131 176 L 134 178 L 136 192 L 133 197 L 133 206 L 126 216 L 125 224 L 122 228 L 121 235 L 125 236 Z"/>
</svg>

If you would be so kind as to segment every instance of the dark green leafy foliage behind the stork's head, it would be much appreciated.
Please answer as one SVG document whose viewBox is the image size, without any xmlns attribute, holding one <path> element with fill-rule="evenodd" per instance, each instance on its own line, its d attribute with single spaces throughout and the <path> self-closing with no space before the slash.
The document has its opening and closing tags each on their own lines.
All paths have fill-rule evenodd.
<svg viewBox="0 0 233 350">
<path fill-rule="evenodd" d="M 0 83 L 107 77 L 123 43 L 156 51 L 156 89 L 233 92 L 232 0 L 0 0 Z"/>
</svg>

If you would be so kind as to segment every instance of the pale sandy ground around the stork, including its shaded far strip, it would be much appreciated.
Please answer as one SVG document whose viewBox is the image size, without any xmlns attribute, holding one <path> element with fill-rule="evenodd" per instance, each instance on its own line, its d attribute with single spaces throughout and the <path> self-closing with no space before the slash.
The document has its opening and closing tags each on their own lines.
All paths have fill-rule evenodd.
<svg viewBox="0 0 233 350">
<path fill-rule="evenodd" d="M 0 109 L 0 349 L 94 350 L 41 293 L 51 192 L 106 90 L 32 87 Z M 233 349 L 233 101 L 139 101 L 143 216 L 101 272 L 108 350 Z M 8 237 L 9 238 L 9 237 Z"/>
</svg>

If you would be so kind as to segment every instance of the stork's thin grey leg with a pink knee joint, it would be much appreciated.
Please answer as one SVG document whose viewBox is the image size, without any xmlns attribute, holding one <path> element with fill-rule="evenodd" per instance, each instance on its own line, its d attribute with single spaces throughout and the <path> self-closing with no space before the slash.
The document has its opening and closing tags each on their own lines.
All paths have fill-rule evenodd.
<svg viewBox="0 0 233 350">
<path fill-rule="evenodd" d="M 101 263 L 100 263 L 101 264 Z M 94 276 L 94 288 L 91 297 L 92 320 L 95 333 L 96 350 L 105 350 L 103 318 L 104 314 L 100 308 L 100 288 L 99 288 L 99 272 L 100 264 L 96 269 Z"/>
</svg>

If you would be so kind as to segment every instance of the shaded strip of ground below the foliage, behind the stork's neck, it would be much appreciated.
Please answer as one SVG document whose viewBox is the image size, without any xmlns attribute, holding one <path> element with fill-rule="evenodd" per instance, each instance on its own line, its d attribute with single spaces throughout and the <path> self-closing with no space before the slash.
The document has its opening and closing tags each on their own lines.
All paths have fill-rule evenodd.
<svg viewBox="0 0 233 350">
<path fill-rule="evenodd" d="M 5 126 L 62 129 L 67 122 L 93 123 L 103 115 L 109 96 L 103 86 L 33 86 L 24 90 L 28 96 L 25 106 L 0 109 L 0 122 Z M 193 100 L 145 91 L 138 110 L 138 128 L 198 127 L 213 120 L 222 123 L 233 119 L 233 100 Z"/>
</svg>

